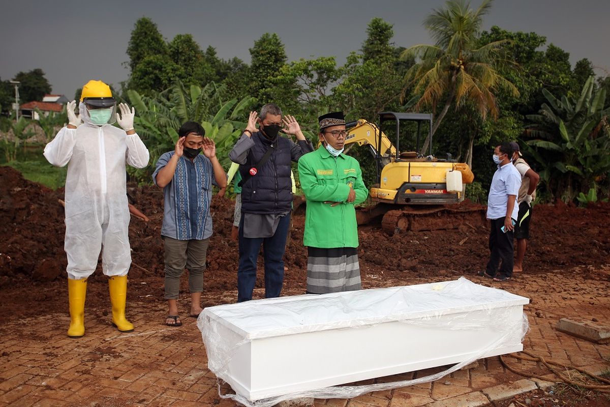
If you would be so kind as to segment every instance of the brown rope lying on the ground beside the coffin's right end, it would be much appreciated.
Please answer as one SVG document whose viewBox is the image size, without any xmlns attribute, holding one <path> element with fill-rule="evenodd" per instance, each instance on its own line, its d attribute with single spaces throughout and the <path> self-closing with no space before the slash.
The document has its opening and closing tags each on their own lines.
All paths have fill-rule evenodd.
<svg viewBox="0 0 610 407">
<path fill-rule="evenodd" d="M 504 356 L 510 356 L 511 358 L 520 359 L 523 361 L 542 363 L 548 370 L 553 372 L 554 375 L 558 376 L 559 379 L 561 379 L 561 381 L 564 383 L 570 384 L 572 386 L 582 387 L 583 389 L 596 390 L 601 393 L 610 394 L 610 380 L 608 380 L 604 377 L 595 375 L 594 373 L 591 373 L 587 370 L 580 369 L 580 367 L 570 366 L 568 364 L 556 362 L 553 360 L 545 360 L 542 356 L 535 355 L 534 353 L 531 353 L 526 350 L 524 350 L 520 353 L 525 353 L 525 355 L 528 355 L 530 357 L 527 358 L 525 356 L 518 355 L 517 353 L 511 354 L 511 355 L 504 355 Z M 510 370 L 511 372 L 513 372 L 517 375 L 524 376 L 524 377 L 533 377 L 536 379 L 548 381 L 547 378 L 545 378 L 544 376 L 535 375 L 535 374 L 529 373 L 529 372 L 523 372 L 522 370 L 518 370 L 518 369 L 515 369 L 514 367 L 509 366 L 501 355 L 500 355 L 500 362 L 503 364 L 504 367 L 506 367 L 506 369 Z M 562 369 L 565 369 L 566 373 L 569 372 L 569 370 L 575 370 L 576 372 L 589 376 L 590 378 L 593 378 L 594 380 L 597 380 L 598 382 L 608 383 L 608 384 L 587 384 L 587 383 L 584 383 L 583 380 L 581 380 L 581 381 L 572 380 L 572 378 L 570 378 L 569 375 L 567 375 L 567 376 L 564 375 L 564 372 L 561 372 L 560 370 L 554 368 L 553 366 L 559 366 Z"/>
</svg>

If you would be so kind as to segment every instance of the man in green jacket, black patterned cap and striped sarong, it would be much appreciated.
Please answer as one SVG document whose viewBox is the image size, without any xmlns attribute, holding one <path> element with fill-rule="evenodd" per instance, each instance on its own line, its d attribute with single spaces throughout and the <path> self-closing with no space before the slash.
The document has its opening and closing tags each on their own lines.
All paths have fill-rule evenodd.
<svg viewBox="0 0 610 407">
<path fill-rule="evenodd" d="M 355 205 L 368 195 L 360 164 L 343 153 L 343 112 L 318 118 L 316 151 L 299 160 L 299 179 L 307 199 L 307 293 L 326 294 L 361 289 Z"/>
</svg>

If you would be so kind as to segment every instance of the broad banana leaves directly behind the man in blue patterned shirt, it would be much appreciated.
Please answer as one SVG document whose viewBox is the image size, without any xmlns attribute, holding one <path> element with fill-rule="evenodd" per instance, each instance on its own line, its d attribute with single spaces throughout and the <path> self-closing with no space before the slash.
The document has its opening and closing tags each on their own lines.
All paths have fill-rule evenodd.
<svg viewBox="0 0 610 407">
<path fill-rule="evenodd" d="M 214 140 L 220 163 L 228 168 L 229 151 L 245 128 L 248 109 L 256 99 L 247 96 L 241 100 L 228 99 L 226 88 L 210 82 L 201 88 L 185 87 L 180 81 L 164 92 L 144 96 L 135 90 L 127 91 L 137 115 L 135 130 L 142 137 L 156 163 L 161 154 L 173 151 L 178 141 L 178 129 L 185 121 L 196 121 L 206 130 L 206 137 Z M 154 165 L 136 170 L 130 175 L 140 182 L 150 182 Z"/>
</svg>

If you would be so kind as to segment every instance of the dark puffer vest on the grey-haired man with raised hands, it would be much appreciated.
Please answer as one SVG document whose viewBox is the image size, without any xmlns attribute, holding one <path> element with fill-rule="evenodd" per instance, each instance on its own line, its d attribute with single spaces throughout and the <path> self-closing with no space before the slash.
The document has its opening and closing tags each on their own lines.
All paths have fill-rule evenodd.
<svg viewBox="0 0 610 407">
<path fill-rule="evenodd" d="M 251 178 L 242 186 L 242 212 L 247 214 L 281 214 L 292 208 L 292 180 L 290 164 L 292 163 L 292 143 L 284 137 L 270 142 L 260 131 L 251 137 L 254 146 L 248 152 L 246 164 L 239 166 L 242 179 Z M 275 151 L 267 162 L 257 168 L 253 177 L 248 175 L 265 155 L 271 144 Z"/>
</svg>

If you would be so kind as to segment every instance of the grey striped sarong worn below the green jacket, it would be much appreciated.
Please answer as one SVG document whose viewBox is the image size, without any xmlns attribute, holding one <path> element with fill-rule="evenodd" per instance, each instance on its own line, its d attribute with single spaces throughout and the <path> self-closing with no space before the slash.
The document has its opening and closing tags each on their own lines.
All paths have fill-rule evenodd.
<svg viewBox="0 0 610 407">
<path fill-rule="evenodd" d="M 308 293 L 326 294 L 361 289 L 357 248 L 308 247 L 307 254 Z"/>
</svg>

